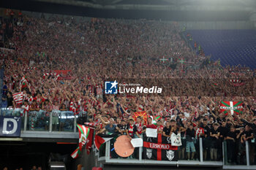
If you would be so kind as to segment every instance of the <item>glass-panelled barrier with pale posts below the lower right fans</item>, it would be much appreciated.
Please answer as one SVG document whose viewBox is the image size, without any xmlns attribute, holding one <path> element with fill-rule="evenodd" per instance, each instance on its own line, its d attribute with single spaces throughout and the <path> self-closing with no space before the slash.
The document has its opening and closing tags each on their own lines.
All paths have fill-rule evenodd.
<svg viewBox="0 0 256 170">
<path fill-rule="evenodd" d="M 183 139 L 183 146 L 178 147 L 176 151 L 176 159 L 173 161 L 157 161 L 156 158 L 147 158 L 146 155 L 148 151 L 144 147 L 138 147 L 134 153 L 127 157 L 122 158 L 118 156 L 115 152 L 114 142 L 116 138 L 102 144 L 99 151 L 94 149 L 98 161 L 104 163 L 133 163 L 133 164 L 148 164 L 148 165 L 171 165 L 171 166 L 215 166 L 222 167 L 223 169 L 256 169 L 255 155 L 251 152 L 255 150 L 253 146 L 254 143 L 249 143 L 248 141 L 244 144 L 238 144 L 239 150 L 237 152 L 231 152 L 231 150 L 236 151 L 235 147 L 228 147 L 227 141 L 220 142 L 218 148 L 206 147 L 207 143 L 210 141 L 205 141 L 202 138 L 195 140 L 195 157 L 193 159 L 187 158 L 186 152 L 186 139 Z M 206 143 L 207 142 L 207 143 Z M 209 145 L 208 145 L 209 146 Z M 215 150 L 216 149 L 216 150 Z M 214 152 L 217 153 L 216 159 L 212 160 L 214 157 Z M 231 153 L 231 155 L 230 155 Z M 253 152 L 255 154 L 255 152 Z"/>
</svg>

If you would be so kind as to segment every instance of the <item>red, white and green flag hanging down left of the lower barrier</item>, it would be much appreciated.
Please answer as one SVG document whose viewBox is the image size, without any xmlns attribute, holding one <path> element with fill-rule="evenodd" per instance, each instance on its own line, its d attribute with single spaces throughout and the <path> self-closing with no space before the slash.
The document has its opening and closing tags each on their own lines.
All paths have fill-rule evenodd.
<svg viewBox="0 0 256 170">
<path fill-rule="evenodd" d="M 86 144 L 90 133 L 90 128 L 87 128 L 85 125 L 77 124 L 77 126 L 79 131 L 79 144 L 78 148 L 71 154 L 72 158 L 78 158 L 78 155 L 80 155 L 82 147 L 84 144 Z"/>
</svg>

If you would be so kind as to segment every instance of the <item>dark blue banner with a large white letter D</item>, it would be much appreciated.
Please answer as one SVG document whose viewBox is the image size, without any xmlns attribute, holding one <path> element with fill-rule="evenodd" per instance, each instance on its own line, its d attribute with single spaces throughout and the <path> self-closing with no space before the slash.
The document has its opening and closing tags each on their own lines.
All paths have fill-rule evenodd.
<svg viewBox="0 0 256 170">
<path fill-rule="evenodd" d="M 0 116 L 0 136 L 20 136 L 21 117 Z"/>
</svg>

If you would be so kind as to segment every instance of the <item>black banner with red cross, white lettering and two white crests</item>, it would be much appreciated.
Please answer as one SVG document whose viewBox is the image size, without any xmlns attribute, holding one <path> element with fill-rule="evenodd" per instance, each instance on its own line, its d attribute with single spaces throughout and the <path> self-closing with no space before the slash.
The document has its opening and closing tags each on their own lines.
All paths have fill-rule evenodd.
<svg viewBox="0 0 256 170">
<path fill-rule="evenodd" d="M 157 161 L 177 161 L 178 147 L 172 146 L 170 138 L 157 134 L 157 138 L 143 139 L 143 157 Z"/>
</svg>

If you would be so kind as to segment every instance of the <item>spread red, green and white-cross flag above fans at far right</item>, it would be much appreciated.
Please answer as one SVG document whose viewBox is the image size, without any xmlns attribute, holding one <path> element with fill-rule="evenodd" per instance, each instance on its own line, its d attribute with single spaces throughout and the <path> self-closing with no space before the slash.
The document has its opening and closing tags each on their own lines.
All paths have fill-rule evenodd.
<svg viewBox="0 0 256 170">
<path fill-rule="evenodd" d="M 242 101 L 221 101 L 220 112 L 224 112 L 227 115 L 229 112 L 231 115 L 236 113 L 237 115 L 242 113 L 243 103 Z"/>
</svg>

